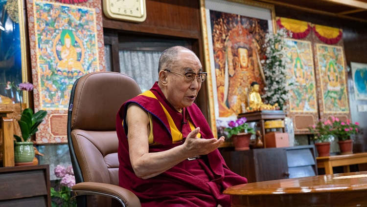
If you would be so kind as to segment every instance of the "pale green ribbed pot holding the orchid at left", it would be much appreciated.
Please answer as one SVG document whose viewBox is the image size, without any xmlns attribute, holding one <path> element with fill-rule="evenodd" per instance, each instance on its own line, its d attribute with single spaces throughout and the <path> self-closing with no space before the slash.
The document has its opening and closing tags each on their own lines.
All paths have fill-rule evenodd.
<svg viewBox="0 0 367 207">
<path fill-rule="evenodd" d="M 15 166 L 33 165 L 33 142 L 16 142 L 14 145 Z"/>
</svg>

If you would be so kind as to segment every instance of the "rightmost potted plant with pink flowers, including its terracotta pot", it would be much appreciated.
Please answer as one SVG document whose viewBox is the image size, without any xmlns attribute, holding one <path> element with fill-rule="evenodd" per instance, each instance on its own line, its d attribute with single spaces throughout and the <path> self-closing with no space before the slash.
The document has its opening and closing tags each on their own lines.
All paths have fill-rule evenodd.
<svg viewBox="0 0 367 207">
<path fill-rule="evenodd" d="M 353 140 L 351 139 L 351 135 L 359 132 L 359 123 L 352 123 L 348 119 L 343 122 L 333 116 L 331 117 L 331 123 L 333 125 L 332 133 L 339 140 L 338 144 L 341 154 L 352 154 Z"/>
</svg>

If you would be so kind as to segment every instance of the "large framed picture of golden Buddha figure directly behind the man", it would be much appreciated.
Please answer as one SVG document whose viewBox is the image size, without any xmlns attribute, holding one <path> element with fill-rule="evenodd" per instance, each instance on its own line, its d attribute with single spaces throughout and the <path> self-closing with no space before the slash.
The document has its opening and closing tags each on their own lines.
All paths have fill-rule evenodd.
<svg viewBox="0 0 367 207">
<path fill-rule="evenodd" d="M 251 83 L 259 83 L 260 94 L 264 92 L 260 61 L 265 54 L 265 34 L 274 31 L 274 6 L 202 0 L 201 13 L 210 125 L 214 136 L 220 137 L 228 121 L 248 106 Z"/>
</svg>

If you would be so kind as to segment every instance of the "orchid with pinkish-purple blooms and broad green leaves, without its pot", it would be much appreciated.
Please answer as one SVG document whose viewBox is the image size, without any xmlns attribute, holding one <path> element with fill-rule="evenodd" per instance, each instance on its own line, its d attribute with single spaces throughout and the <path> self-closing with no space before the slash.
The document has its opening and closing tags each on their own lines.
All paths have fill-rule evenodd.
<svg viewBox="0 0 367 207">
<path fill-rule="evenodd" d="M 43 119 L 46 117 L 47 111 L 39 110 L 37 113 L 33 113 L 31 108 L 26 108 L 22 111 L 22 103 L 23 103 L 23 91 L 31 91 L 33 90 L 32 83 L 20 83 L 19 86 L 15 85 L 15 83 L 11 83 L 8 81 L 6 84 L 7 90 L 14 88 L 21 100 L 21 119 L 18 120 L 19 127 L 21 129 L 22 137 L 18 135 L 14 135 L 14 138 L 17 142 L 29 142 L 31 136 L 38 131 L 38 125 L 43 122 Z"/>
</svg>

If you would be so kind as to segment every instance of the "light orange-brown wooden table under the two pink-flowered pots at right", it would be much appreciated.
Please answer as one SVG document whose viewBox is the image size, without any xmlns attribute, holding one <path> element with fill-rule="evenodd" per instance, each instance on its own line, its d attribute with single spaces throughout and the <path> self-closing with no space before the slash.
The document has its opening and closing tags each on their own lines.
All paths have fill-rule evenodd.
<svg viewBox="0 0 367 207">
<path fill-rule="evenodd" d="M 349 165 L 367 163 L 367 152 L 318 157 L 316 160 L 318 168 L 325 168 L 325 174 L 333 174 L 333 167 L 336 166 L 344 166 L 344 172 L 350 172 Z"/>
</svg>

